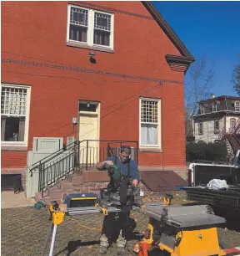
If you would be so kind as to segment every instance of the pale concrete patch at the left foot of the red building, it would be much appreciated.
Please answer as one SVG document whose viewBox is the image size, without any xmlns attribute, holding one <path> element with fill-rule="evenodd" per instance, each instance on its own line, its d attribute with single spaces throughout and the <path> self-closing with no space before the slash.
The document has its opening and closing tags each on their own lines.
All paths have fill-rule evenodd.
<svg viewBox="0 0 240 256">
<path fill-rule="evenodd" d="M 1 192 L 1 208 L 28 207 L 35 203 L 33 198 L 27 199 L 24 192 L 14 194 L 13 191 Z"/>
</svg>

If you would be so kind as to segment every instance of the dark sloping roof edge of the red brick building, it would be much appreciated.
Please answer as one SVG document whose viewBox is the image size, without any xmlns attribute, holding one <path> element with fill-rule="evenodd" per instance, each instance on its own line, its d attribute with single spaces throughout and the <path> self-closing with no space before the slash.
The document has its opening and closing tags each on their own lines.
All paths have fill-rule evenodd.
<svg viewBox="0 0 240 256">
<path fill-rule="evenodd" d="M 159 13 L 158 9 L 153 6 L 153 3 L 150 1 L 142 1 L 143 6 L 148 10 L 148 12 L 152 15 L 155 21 L 158 23 L 159 27 L 163 29 L 164 33 L 168 35 L 168 38 L 173 42 L 178 51 L 186 57 L 186 61 L 192 63 L 194 61 L 193 55 L 190 54 L 187 47 L 183 44 L 183 42 L 178 38 L 178 35 L 173 31 L 168 23 L 164 20 L 161 13 Z"/>
</svg>

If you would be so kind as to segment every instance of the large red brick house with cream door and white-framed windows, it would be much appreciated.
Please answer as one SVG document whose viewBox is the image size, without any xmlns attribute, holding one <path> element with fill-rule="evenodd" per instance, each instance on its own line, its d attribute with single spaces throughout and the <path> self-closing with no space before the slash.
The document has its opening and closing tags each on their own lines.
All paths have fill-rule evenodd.
<svg viewBox="0 0 240 256">
<path fill-rule="evenodd" d="M 83 163 L 107 156 L 104 140 L 138 141 L 141 172 L 186 171 L 194 59 L 152 3 L 4 2 L 2 35 L 2 174 L 24 176 L 31 152 L 47 156 L 72 136 L 95 149 Z"/>
</svg>

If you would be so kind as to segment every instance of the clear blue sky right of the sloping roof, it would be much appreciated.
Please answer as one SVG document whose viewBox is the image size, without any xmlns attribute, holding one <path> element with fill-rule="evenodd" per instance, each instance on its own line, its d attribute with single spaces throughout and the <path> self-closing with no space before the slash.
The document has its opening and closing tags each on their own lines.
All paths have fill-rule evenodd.
<svg viewBox="0 0 240 256">
<path fill-rule="evenodd" d="M 233 69 L 240 63 L 240 2 L 153 2 L 188 51 L 198 61 L 204 56 L 215 74 L 211 93 L 237 95 Z M 185 82 L 188 83 L 188 73 Z"/>
</svg>

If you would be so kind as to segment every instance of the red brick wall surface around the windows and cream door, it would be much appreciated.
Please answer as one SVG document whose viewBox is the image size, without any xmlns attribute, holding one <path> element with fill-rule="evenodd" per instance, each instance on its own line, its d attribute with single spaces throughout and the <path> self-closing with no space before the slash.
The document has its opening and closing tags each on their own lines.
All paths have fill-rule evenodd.
<svg viewBox="0 0 240 256">
<path fill-rule="evenodd" d="M 77 117 L 77 100 L 83 99 L 101 101 L 102 140 L 138 141 L 139 96 L 146 96 L 163 99 L 163 153 L 140 152 L 139 165 L 185 166 L 184 74 L 171 70 L 165 59 L 166 54 L 180 55 L 178 50 L 142 3 L 95 4 L 118 11 L 114 54 L 95 51 L 97 64 L 91 64 L 89 49 L 66 45 L 67 2 L 2 3 L 2 59 L 7 59 L 2 82 L 32 86 L 28 150 L 33 136 L 77 136 L 72 117 Z M 61 64 L 64 69 L 56 67 Z M 165 80 L 163 88 L 157 79 Z M 3 151 L 2 166 L 25 166 L 20 156 L 26 152 Z"/>
</svg>

